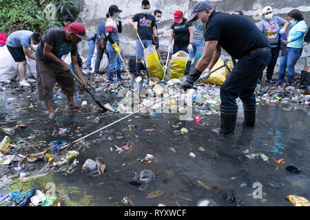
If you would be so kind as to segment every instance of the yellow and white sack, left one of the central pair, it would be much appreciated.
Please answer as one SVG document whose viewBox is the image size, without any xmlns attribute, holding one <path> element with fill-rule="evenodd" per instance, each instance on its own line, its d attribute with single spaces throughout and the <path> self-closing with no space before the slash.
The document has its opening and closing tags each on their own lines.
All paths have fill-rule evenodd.
<svg viewBox="0 0 310 220">
<path fill-rule="evenodd" d="M 164 69 L 159 61 L 158 54 L 156 52 L 154 45 L 149 45 L 147 49 L 145 49 L 145 61 L 147 65 L 147 69 L 149 70 L 149 74 L 151 74 L 154 78 L 163 79 Z"/>
</svg>

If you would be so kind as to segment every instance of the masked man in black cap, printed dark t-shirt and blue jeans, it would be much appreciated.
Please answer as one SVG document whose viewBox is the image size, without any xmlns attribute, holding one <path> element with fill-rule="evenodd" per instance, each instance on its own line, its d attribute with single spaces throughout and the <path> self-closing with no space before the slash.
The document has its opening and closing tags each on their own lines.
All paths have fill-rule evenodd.
<svg viewBox="0 0 310 220">
<path fill-rule="evenodd" d="M 149 47 L 149 45 L 152 45 L 152 34 L 154 35 L 154 40 L 156 43 L 156 49 L 159 47 L 159 39 L 158 34 L 156 30 L 156 19 L 155 17 L 150 14 L 150 6 L 149 1 L 143 0 L 142 6 L 141 6 L 141 13 L 138 13 L 132 17 L 128 21 L 130 25 L 134 27 L 134 31 L 138 32 L 141 41 L 145 48 Z M 134 22 L 137 22 L 138 24 L 135 25 Z M 143 58 L 143 46 L 141 45 L 139 39 L 136 40 L 136 73 L 134 74 L 134 78 L 138 78 L 138 76 L 141 76 L 141 68 L 142 68 L 142 58 Z"/>
</svg>

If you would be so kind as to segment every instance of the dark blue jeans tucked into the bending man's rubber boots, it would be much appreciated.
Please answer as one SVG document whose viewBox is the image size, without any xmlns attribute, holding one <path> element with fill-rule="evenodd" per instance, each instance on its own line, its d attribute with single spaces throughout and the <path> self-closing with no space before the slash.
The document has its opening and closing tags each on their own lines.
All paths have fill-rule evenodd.
<svg viewBox="0 0 310 220">
<path fill-rule="evenodd" d="M 271 52 L 256 52 L 240 58 L 220 88 L 221 104 L 237 107 L 238 97 L 245 104 L 256 104 L 254 91 L 258 78 L 270 59 Z"/>
</svg>

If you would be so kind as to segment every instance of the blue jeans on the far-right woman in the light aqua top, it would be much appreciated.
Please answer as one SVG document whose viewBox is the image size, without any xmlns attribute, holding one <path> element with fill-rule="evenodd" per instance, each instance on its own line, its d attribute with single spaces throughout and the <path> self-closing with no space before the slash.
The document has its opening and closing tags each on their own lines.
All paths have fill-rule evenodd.
<svg viewBox="0 0 310 220">
<path fill-rule="evenodd" d="M 285 74 L 287 69 L 288 76 L 295 75 L 295 65 L 302 54 L 302 48 L 287 47 L 287 56 L 281 56 L 279 74 Z"/>
</svg>

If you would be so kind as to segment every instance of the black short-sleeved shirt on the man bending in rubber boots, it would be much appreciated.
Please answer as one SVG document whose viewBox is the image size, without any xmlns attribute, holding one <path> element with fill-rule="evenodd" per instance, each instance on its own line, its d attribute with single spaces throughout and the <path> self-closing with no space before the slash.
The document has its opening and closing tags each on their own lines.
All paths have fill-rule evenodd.
<svg viewBox="0 0 310 220">
<path fill-rule="evenodd" d="M 220 47 L 235 59 L 246 56 L 251 50 L 270 47 L 265 35 L 251 20 L 216 11 L 211 12 L 205 41 L 218 41 Z"/>
</svg>

